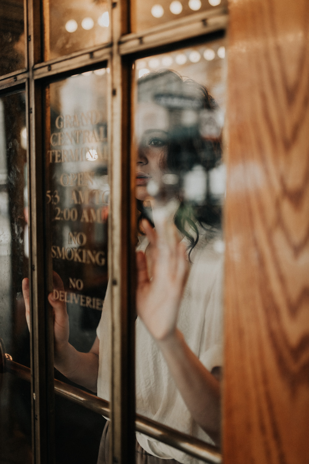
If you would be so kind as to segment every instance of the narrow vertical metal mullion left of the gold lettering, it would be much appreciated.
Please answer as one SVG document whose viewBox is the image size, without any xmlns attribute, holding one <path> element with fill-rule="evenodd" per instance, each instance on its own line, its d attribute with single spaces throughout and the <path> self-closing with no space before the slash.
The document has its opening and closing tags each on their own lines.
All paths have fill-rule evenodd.
<svg viewBox="0 0 309 464">
<path fill-rule="evenodd" d="M 47 279 L 44 273 L 43 217 L 43 93 L 33 78 L 33 66 L 41 59 L 41 2 L 29 0 L 28 65 L 26 110 L 28 115 L 28 195 L 30 218 L 30 300 L 32 369 L 32 449 L 33 463 L 54 462 L 54 385 L 52 314 L 46 308 Z"/>
</svg>

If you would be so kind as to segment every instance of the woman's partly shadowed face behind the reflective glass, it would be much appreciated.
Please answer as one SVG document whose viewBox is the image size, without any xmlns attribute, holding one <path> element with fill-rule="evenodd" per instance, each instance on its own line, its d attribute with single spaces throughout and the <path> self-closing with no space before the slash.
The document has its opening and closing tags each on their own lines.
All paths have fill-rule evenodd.
<svg viewBox="0 0 309 464">
<path fill-rule="evenodd" d="M 167 156 L 167 133 L 162 129 L 147 129 L 139 140 L 136 161 L 136 198 L 150 200 L 147 191 L 150 181 L 158 187 L 165 171 Z M 154 185 L 155 185 L 154 184 Z"/>
</svg>

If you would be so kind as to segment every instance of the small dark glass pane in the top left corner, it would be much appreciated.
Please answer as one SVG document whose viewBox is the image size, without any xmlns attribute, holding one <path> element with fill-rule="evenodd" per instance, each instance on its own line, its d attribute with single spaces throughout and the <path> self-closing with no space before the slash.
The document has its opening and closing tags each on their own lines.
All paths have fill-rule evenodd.
<svg viewBox="0 0 309 464">
<path fill-rule="evenodd" d="M 25 66 L 24 0 L 1 0 L 0 75 Z"/>
</svg>

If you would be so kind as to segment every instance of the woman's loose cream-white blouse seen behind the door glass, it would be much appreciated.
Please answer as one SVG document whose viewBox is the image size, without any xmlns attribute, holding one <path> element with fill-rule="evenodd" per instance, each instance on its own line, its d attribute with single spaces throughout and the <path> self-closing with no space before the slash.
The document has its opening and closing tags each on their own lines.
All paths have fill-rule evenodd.
<svg viewBox="0 0 309 464">
<path fill-rule="evenodd" d="M 219 233 L 199 230 L 200 238 L 190 254 L 189 277 L 179 309 L 177 327 L 189 348 L 211 371 L 222 366 L 222 276 L 223 242 Z M 184 239 L 185 240 L 185 239 Z M 145 242 L 145 241 L 144 241 Z M 146 247 L 143 242 L 141 248 Z M 100 340 L 98 396 L 109 400 L 110 388 L 110 284 L 97 328 Z M 136 332 L 136 411 L 143 416 L 213 444 L 196 424 L 170 375 L 163 355 L 138 317 Z M 142 448 L 160 458 L 173 458 L 183 464 L 199 461 L 183 451 L 137 432 Z"/>
</svg>

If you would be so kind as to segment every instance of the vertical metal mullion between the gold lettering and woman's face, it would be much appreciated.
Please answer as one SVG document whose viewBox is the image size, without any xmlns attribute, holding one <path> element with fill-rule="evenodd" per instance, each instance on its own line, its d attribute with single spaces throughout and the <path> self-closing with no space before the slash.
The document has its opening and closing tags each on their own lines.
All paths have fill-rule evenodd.
<svg viewBox="0 0 309 464">
<path fill-rule="evenodd" d="M 111 59 L 111 216 L 110 250 L 112 278 L 111 366 L 111 463 L 135 462 L 134 340 L 132 337 L 132 246 L 129 158 L 130 66 L 122 62 L 118 43 L 128 32 L 127 4 L 112 8 L 113 54 Z M 129 264 L 131 272 L 129 273 Z"/>
</svg>

